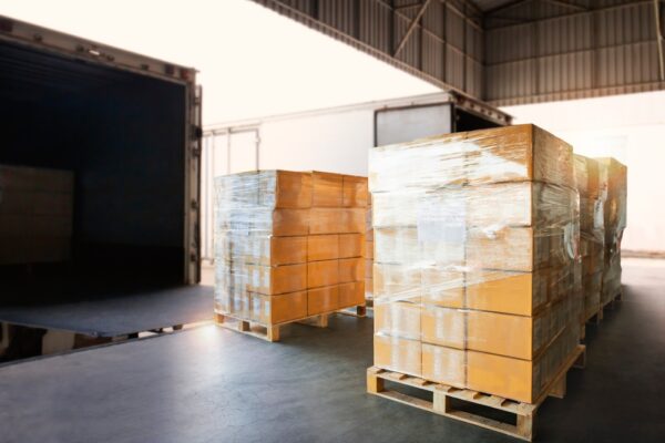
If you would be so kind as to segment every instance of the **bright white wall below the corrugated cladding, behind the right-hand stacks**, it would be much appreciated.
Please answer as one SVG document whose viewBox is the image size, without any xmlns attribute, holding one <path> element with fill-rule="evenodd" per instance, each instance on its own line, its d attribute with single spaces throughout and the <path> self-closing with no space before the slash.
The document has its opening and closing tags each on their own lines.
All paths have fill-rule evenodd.
<svg viewBox="0 0 665 443">
<path fill-rule="evenodd" d="M 665 251 L 665 92 L 504 107 L 515 123 L 535 123 L 589 156 L 628 166 L 623 249 Z"/>
</svg>

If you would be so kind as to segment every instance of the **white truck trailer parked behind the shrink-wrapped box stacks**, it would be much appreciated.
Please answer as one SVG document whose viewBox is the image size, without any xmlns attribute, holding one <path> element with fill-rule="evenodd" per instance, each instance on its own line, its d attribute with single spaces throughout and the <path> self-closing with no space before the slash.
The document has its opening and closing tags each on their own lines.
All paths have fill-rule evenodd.
<svg viewBox="0 0 665 443">
<path fill-rule="evenodd" d="M 202 255 L 213 258 L 213 177 L 258 169 L 367 176 L 372 146 L 511 124 L 512 117 L 454 92 L 273 115 L 205 127 Z"/>
</svg>

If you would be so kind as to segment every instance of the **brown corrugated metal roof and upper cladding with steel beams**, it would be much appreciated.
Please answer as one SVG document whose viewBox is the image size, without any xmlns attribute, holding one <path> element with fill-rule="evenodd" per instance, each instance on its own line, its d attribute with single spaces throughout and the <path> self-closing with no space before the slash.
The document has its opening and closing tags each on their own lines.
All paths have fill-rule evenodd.
<svg viewBox="0 0 665 443">
<path fill-rule="evenodd" d="M 663 0 L 254 0 L 493 105 L 665 89 Z"/>
</svg>

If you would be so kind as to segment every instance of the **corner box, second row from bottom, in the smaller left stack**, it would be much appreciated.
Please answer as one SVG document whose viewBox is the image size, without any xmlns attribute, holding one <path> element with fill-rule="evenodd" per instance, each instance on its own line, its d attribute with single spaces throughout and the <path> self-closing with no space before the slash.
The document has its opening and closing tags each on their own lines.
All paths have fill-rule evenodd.
<svg viewBox="0 0 665 443">
<path fill-rule="evenodd" d="M 273 296 L 307 289 L 307 265 L 245 265 L 245 287 L 250 292 Z"/>
</svg>

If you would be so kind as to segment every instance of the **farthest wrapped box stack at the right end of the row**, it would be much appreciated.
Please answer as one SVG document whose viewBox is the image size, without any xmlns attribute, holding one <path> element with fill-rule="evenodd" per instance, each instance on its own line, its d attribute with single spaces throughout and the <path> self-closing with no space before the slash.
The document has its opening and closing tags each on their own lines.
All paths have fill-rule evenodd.
<svg viewBox="0 0 665 443">
<path fill-rule="evenodd" d="M 627 168 L 614 158 L 596 158 L 604 208 L 605 254 L 601 306 L 621 293 L 621 239 L 626 227 Z"/>
</svg>

